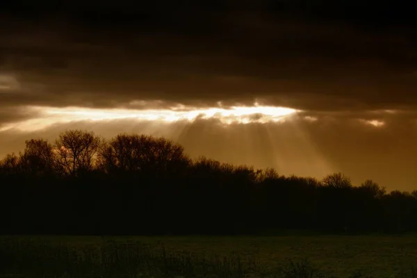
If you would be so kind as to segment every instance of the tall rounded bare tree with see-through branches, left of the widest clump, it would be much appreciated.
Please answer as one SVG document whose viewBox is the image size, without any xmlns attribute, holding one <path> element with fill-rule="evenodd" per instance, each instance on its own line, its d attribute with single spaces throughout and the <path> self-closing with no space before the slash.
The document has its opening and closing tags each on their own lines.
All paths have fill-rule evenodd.
<svg viewBox="0 0 417 278">
<path fill-rule="evenodd" d="M 55 142 L 56 162 L 66 174 L 88 172 L 95 165 L 101 139 L 90 131 L 69 130 L 60 133 Z"/>
</svg>

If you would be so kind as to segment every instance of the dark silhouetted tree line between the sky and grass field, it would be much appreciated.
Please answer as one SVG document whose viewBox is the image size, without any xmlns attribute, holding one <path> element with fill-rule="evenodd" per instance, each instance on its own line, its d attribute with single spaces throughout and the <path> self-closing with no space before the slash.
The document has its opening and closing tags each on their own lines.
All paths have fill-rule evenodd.
<svg viewBox="0 0 417 278">
<path fill-rule="evenodd" d="M 417 231 L 417 190 L 342 173 L 285 177 L 200 157 L 165 138 L 68 130 L 0 161 L 1 234 Z"/>
</svg>

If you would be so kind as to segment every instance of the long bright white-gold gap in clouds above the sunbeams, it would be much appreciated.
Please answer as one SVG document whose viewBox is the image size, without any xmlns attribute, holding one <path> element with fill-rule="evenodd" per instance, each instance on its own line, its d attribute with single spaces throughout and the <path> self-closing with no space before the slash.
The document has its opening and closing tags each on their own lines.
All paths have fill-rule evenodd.
<svg viewBox="0 0 417 278">
<path fill-rule="evenodd" d="M 161 122 L 193 122 L 197 119 L 215 119 L 222 124 L 250 124 L 281 122 L 286 117 L 299 111 L 293 108 L 277 106 L 262 106 L 255 103 L 253 106 L 230 106 L 228 108 L 195 108 L 182 104 L 163 109 L 102 109 L 102 108 L 81 108 L 81 107 L 44 107 L 28 106 L 24 109 L 26 113 L 39 115 L 30 120 L 7 124 L 0 129 L 18 129 L 20 131 L 36 131 L 44 129 L 51 124 L 68 123 L 77 121 L 106 121 L 131 119 L 138 121 L 161 121 Z"/>
</svg>

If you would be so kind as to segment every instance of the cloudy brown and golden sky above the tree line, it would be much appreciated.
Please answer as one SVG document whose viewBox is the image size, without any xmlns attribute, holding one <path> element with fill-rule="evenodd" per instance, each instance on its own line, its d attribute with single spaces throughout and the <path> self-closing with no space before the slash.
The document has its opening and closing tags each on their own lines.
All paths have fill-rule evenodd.
<svg viewBox="0 0 417 278">
<path fill-rule="evenodd" d="M 192 157 L 417 189 L 405 1 L 2 1 L 0 157 L 145 133 Z"/>
</svg>

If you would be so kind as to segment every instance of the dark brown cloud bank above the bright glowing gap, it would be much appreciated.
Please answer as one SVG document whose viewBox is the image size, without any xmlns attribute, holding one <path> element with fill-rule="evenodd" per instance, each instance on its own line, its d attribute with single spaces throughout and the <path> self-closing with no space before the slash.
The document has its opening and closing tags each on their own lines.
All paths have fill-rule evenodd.
<svg viewBox="0 0 417 278">
<path fill-rule="evenodd" d="M 302 8 L 281 1 L 277 11 L 267 10 L 279 7 L 267 1 L 253 4 L 163 2 L 160 9 L 138 10 L 72 3 L 45 19 L 10 14 L 2 25 L 13 32 L 0 35 L 2 69 L 19 74 L 38 101 L 17 94 L 2 102 L 103 107 L 135 99 L 263 97 L 314 110 L 417 104 L 412 25 L 393 18 L 382 28 L 386 19 L 373 15 L 375 28 L 324 15 L 318 20 L 311 17 L 319 13 L 313 2 Z M 357 5 L 325 4 L 326 15 L 345 15 L 341 7 Z M 21 17 L 31 20 L 22 24 Z"/>
</svg>

